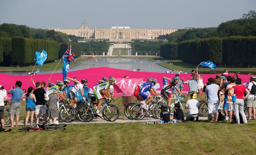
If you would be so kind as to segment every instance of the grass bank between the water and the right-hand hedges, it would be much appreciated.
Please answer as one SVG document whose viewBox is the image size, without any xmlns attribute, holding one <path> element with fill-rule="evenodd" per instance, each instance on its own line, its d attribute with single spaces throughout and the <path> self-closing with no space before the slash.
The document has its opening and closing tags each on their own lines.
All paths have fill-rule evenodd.
<svg viewBox="0 0 256 155">
<path fill-rule="evenodd" d="M 160 64 L 160 65 L 167 67 L 169 69 L 172 69 L 172 70 L 182 70 L 182 71 L 184 71 L 184 70 L 189 71 L 189 70 L 195 69 L 197 67 L 194 64 L 188 64 L 188 63 L 183 63 L 183 62 L 179 62 L 179 61 L 181 61 L 181 60 L 167 60 L 164 63 L 157 63 L 157 64 Z M 172 64 L 170 64 L 170 63 L 172 63 Z M 200 67 L 200 69 L 199 69 L 200 71 L 213 71 L 212 69 L 209 69 L 209 68 L 205 68 L 202 66 L 199 66 L 199 67 Z M 214 71 L 224 72 L 225 69 L 229 70 L 229 72 L 242 72 L 242 71 L 252 72 L 252 71 L 256 70 L 256 67 L 253 67 L 253 68 L 217 67 L 216 69 L 214 69 Z"/>
</svg>

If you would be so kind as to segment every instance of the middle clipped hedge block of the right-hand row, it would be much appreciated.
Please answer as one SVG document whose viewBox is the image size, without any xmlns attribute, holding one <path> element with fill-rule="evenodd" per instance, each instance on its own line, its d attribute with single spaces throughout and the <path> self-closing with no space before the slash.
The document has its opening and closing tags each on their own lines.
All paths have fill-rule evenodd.
<svg viewBox="0 0 256 155">
<path fill-rule="evenodd" d="M 212 37 L 181 42 L 178 44 L 178 58 L 191 64 L 199 64 L 203 61 L 221 64 L 222 40 Z"/>
</svg>

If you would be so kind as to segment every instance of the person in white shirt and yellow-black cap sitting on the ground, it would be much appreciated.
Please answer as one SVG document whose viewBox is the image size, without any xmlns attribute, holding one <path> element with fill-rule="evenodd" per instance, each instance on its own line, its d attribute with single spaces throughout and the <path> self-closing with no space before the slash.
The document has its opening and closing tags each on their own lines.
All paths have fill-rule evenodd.
<svg viewBox="0 0 256 155">
<path fill-rule="evenodd" d="M 196 100 L 196 93 L 193 92 L 191 94 L 191 99 L 187 101 L 185 105 L 185 109 L 188 109 L 188 115 L 186 117 L 186 121 L 193 121 L 196 118 L 196 121 L 198 121 L 199 116 L 199 108 L 200 103 Z"/>
</svg>

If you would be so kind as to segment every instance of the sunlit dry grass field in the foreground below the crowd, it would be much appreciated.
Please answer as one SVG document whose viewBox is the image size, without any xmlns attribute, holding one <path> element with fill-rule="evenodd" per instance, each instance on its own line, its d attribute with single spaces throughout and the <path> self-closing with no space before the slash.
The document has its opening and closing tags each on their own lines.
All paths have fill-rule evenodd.
<svg viewBox="0 0 256 155">
<path fill-rule="evenodd" d="M 114 98 L 123 115 L 121 97 Z M 203 99 L 200 97 L 198 100 Z M 135 100 L 135 98 L 133 98 Z M 21 119 L 25 116 L 22 103 Z M 248 124 L 206 121 L 146 125 L 135 123 L 68 124 L 65 131 L 0 133 L 5 154 L 254 154 L 256 120 Z M 9 128 L 9 127 L 6 127 Z"/>
</svg>

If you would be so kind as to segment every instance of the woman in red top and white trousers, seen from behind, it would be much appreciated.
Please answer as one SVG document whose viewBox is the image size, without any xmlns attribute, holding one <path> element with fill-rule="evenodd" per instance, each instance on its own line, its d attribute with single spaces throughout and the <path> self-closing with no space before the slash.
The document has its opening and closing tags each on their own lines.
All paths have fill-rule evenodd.
<svg viewBox="0 0 256 155">
<path fill-rule="evenodd" d="M 233 92 L 234 94 L 236 94 L 236 101 L 233 102 L 233 111 L 235 112 L 235 117 L 236 117 L 236 123 L 240 124 L 240 118 L 239 118 L 239 113 L 242 116 L 242 120 L 244 123 L 247 123 L 247 119 L 246 116 L 244 114 L 244 100 L 248 97 L 248 95 L 250 94 L 250 92 L 248 91 L 248 89 L 245 88 L 244 85 L 241 85 L 242 83 L 242 79 L 241 78 L 237 78 L 235 80 L 236 85 L 232 87 L 231 92 Z M 247 92 L 246 96 L 244 97 L 244 92 Z"/>
</svg>

